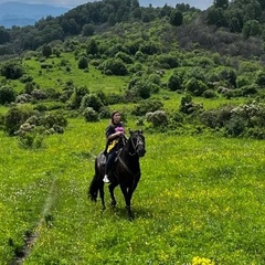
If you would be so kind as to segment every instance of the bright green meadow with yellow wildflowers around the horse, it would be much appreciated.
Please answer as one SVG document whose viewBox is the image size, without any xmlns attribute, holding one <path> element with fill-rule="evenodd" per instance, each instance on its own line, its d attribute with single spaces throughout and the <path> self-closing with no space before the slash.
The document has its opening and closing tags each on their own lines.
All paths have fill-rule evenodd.
<svg viewBox="0 0 265 265">
<path fill-rule="evenodd" d="M 119 189 L 116 209 L 87 200 L 106 124 L 71 119 L 38 150 L 1 132 L 0 264 L 26 244 L 25 265 L 265 263 L 264 141 L 146 132 L 129 222 Z"/>
</svg>

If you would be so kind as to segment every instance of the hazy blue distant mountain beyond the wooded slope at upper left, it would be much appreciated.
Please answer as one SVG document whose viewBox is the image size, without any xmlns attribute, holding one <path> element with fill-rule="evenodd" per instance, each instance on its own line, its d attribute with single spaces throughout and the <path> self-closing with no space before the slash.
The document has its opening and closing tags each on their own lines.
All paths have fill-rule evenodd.
<svg viewBox="0 0 265 265">
<path fill-rule="evenodd" d="M 47 15 L 57 17 L 68 10 L 68 8 L 49 4 L 4 2 L 0 3 L 0 25 L 4 28 L 33 25 L 42 18 Z"/>
</svg>

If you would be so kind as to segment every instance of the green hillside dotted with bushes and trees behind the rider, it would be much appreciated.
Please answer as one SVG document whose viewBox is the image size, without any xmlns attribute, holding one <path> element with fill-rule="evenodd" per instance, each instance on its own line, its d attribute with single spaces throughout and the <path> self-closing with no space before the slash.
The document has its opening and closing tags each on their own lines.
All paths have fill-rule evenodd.
<svg viewBox="0 0 265 265">
<path fill-rule="evenodd" d="M 87 121 L 108 117 L 113 105 L 125 104 L 128 115 L 155 130 L 265 138 L 259 35 L 251 32 L 246 38 L 244 25 L 236 33 L 206 24 L 205 17 L 220 8 L 153 9 L 135 1 L 128 9 L 110 2 L 112 8 L 106 2 L 89 3 L 21 29 L 21 44 L 35 49 L 10 60 L 3 55 L 0 104 L 29 104 L 40 116 L 61 109 Z M 54 39 L 59 34 L 61 39 Z M 19 40 L 13 44 L 18 49 Z M 12 119 L 6 124 L 2 117 L 3 130 L 17 135 L 32 116 L 30 109 L 15 124 Z M 34 123 L 44 126 L 45 120 Z M 53 126 L 63 131 L 65 123 L 47 129 Z"/>
</svg>

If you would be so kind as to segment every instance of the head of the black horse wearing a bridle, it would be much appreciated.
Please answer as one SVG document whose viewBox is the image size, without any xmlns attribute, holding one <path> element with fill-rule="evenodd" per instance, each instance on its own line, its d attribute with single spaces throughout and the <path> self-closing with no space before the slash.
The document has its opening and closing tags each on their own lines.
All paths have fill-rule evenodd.
<svg viewBox="0 0 265 265">
<path fill-rule="evenodd" d="M 130 134 L 130 144 L 134 151 L 132 155 L 138 155 L 139 157 L 144 157 L 146 153 L 146 139 L 142 134 L 142 130 L 129 130 Z"/>
</svg>

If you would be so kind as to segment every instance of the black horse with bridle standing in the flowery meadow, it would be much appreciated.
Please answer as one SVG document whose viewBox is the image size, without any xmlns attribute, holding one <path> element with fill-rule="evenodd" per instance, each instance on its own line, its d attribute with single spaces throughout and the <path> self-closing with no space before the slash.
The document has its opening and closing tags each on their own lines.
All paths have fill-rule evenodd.
<svg viewBox="0 0 265 265">
<path fill-rule="evenodd" d="M 129 219 L 132 219 L 130 210 L 130 200 L 137 184 L 140 180 L 141 171 L 139 158 L 146 153 L 146 141 L 142 130 L 130 130 L 130 136 L 126 140 L 124 147 L 118 151 L 116 161 L 108 174 L 110 184 L 108 186 L 112 205 L 117 204 L 114 195 L 114 189 L 119 186 L 124 194 L 126 209 Z M 105 173 L 106 157 L 100 152 L 95 159 L 95 176 L 88 189 L 88 197 L 92 201 L 96 201 L 99 191 L 103 209 L 105 209 L 104 200 L 104 173 Z"/>
</svg>

